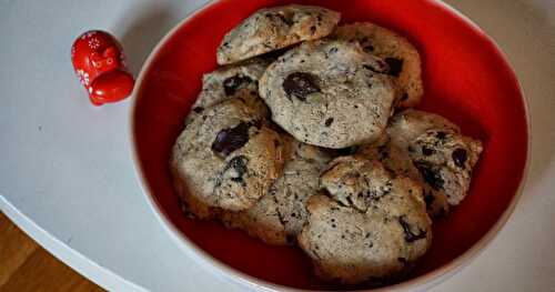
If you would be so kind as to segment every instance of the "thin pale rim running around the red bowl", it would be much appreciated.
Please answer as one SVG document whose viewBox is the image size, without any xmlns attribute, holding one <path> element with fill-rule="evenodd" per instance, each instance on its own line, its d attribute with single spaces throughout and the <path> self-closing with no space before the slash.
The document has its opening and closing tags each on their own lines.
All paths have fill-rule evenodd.
<svg viewBox="0 0 555 292">
<path fill-rule="evenodd" d="M 291 291 L 291 292 L 302 292 L 302 291 L 314 291 L 314 290 L 304 290 L 304 289 L 296 289 L 296 288 L 291 288 L 291 286 L 284 286 L 280 284 L 275 284 L 272 282 L 269 282 L 266 280 L 258 279 L 255 276 L 252 276 L 250 274 L 246 274 L 244 272 L 241 272 L 223 262 L 220 260 L 215 259 L 204 250 L 202 250 L 200 246 L 198 246 L 195 243 L 193 243 L 189 238 L 183 234 L 167 217 L 165 212 L 163 211 L 162 207 L 158 202 L 158 200 L 154 198 L 154 195 L 151 193 L 151 190 L 147 183 L 147 178 L 144 173 L 141 170 L 141 162 L 139 159 L 139 152 L 137 149 L 137 139 L 134 135 L 134 129 L 135 129 L 135 114 L 137 114 L 137 95 L 139 91 L 142 88 L 143 80 L 145 79 L 147 72 L 150 70 L 154 59 L 160 53 L 162 47 L 170 40 L 178 31 L 179 29 L 186 22 L 189 22 L 191 19 L 196 17 L 200 12 L 203 10 L 208 9 L 209 7 L 212 7 L 220 2 L 222 0 L 209 0 L 205 3 L 203 3 L 201 7 L 194 9 L 192 12 L 190 12 L 186 17 L 184 17 L 181 21 L 179 21 L 170 31 L 165 33 L 165 36 L 160 39 L 160 41 L 157 43 L 157 46 L 152 49 L 152 51 L 149 53 L 149 57 L 145 59 L 144 63 L 141 67 L 141 70 L 139 72 L 139 75 L 135 81 L 135 85 L 133 88 L 133 92 L 131 94 L 131 109 L 129 111 L 128 115 L 128 132 L 129 132 L 129 145 L 131 148 L 131 155 L 133 160 L 133 168 L 137 174 L 137 180 L 139 181 L 139 185 L 142 190 L 142 195 L 144 199 L 148 201 L 148 205 L 150 210 L 155 214 L 157 220 L 163 225 L 163 230 L 170 235 L 170 238 L 176 243 L 176 245 L 182 250 L 189 258 L 191 258 L 195 263 L 200 264 L 203 269 L 205 269 L 208 272 L 211 272 L 215 276 L 230 282 L 234 284 L 239 284 L 240 286 L 249 286 L 252 289 L 258 289 L 259 291 Z M 426 289 L 430 289 L 432 286 L 435 286 L 445 280 L 450 279 L 454 274 L 456 274 L 458 271 L 461 271 L 463 268 L 467 266 L 478 254 L 481 254 L 486 248 L 491 246 L 491 243 L 493 239 L 498 234 L 498 232 L 502 230 L 502 228 L 506 224 L 508 221 L 508 218 L 511 214 L 514 212 L 517 202 L 519 201 L 521 197 L 523 195 L 523 190 L 524 187 L 528 180 L 528 174 L 529 174 L 529 164 L 531 164 L 531 157 L 532 157 L 532 125 L 531 125 L 531 117 L 529 117 L 529 108 L 528 108 L 528 102 L 525 95 L 525 92 L 523 90 L 523 87 L 521 84 L 521 81 L 517 79 L 516 72 L 514 68 L 511 66 L 511 62 L 508 61 L 507 54 L 505 51 L 497 46 L 495 40 L 487 36 L 474 21 L 472 21 L 468 17 L 463 14 L 461 11 L 455 9 L 454 7 L 450 6 L 448 3 L 443 2 L 442 0 L 425 0 L 431 2 L 432 4 L 438 6 L 443 9 L 445 9 L 447 12 L 451 12 L 454 14 L 454 17 L 460 18 L 470 27 L 475 30 L 475 32 L 480 33 L 487 42 L 492 44 L 492 47 L 497 50 L 498 54 L 503 58 L 503 61 L 507 64 L 507 68 L 509 69 L 511 75 L 514 78 L 516 85 L 518 87 L 518 90 L 521 91 L 521 97 L 523 100 L 523 105 L 524 105 L 524 112 L 525 112 L 525 122 L 526 122 L 526 138 L 527 138 L 527 144 L 526 144 L 526 159 L 525 159 L 525 164 L 524 164 L 524 170 L 523 170 L 523 175 L 521 178 L 521 182 L 518 184 L 518 188 L 516 190 L 515 195 L 511 200 L 509 204 L 505 209 L 505 211 L 502 213 L 502 215 L 497 219 L 497 221 L 494 223 L 494 225 L 477 241 L 475 242 L 470 249 L 467 249 L 465 252 L 463 252 L 461 255 L 456 256 L 453 259 L 451 262 L 447 262 L 441 266 L 438 266 L 435 270 L 432 270 L 427 273 L 424 273 L 422 275 L 418 275 L 414 279 L 396 283 L 393 285 L 387 285 L 384 288 L 379 288 L 379 289 L 371 289 L 373 292 L 382 292 L 382 291 L 424 291 Z M 355 291 L 369 291 L 369 290 L 355 290 Z"/>
</svg>

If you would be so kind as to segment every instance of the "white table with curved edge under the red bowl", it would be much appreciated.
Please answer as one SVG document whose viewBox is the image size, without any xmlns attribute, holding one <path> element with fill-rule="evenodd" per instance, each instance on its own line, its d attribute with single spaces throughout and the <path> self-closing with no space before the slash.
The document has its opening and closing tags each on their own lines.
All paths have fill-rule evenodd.
<svg viewBox="0 0 555 292">
<path fill-rule="evenodd" d="M 204 1 L 77 2 L 0 0 L 0 209 L 105 289 L 242 290 L 192 262 L 165 233 L 133 172 L 129 100 L 91 107 L 70 63 L 78 34 L 105 29 L 137 74 L 158 40 Z M 555 1 L 448 2 L 508 54 L 534 141 L 528 183 L 506 226 L 433 290 L 555 291 Z"/>
</svg>

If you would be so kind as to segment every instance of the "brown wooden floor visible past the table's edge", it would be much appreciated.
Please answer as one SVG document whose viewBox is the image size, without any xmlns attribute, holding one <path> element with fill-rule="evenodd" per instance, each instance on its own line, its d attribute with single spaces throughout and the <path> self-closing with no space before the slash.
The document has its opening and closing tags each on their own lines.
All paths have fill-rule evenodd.
<svg viewBox="0 0 555 292">
<path fill-rule="evenodd" d="M 0 211 L 0 292 L 104 291 L 32 241 Z"/>
</svg>

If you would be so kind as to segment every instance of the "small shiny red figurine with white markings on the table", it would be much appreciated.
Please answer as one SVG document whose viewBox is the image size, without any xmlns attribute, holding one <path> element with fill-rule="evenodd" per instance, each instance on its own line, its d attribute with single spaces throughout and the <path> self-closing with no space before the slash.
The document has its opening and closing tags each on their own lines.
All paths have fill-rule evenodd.
<svg viewBox="0 0 555 292">
<path fill-rule="evenodd" d="M 123 50 L 105 31 L 81 34 L 71 47 L 71 62 L 94 105 L 120 101 L 133 90 L 134 80 L 127 69 Z"/>
</svg>

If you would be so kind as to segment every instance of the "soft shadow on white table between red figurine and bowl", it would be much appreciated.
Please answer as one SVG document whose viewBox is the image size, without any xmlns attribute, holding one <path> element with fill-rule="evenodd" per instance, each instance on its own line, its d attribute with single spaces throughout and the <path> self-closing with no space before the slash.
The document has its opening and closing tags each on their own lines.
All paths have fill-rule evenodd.
<svg viewBox="0 0 555 292">
<path fill-rule="evenodd" d="M 131 6 L 121 16 L 113 30 L 120 37 L 129 69 L 135 78 L 147 57 L 179 20 L 171 7 L 162 1 Z"/>
</svg>

